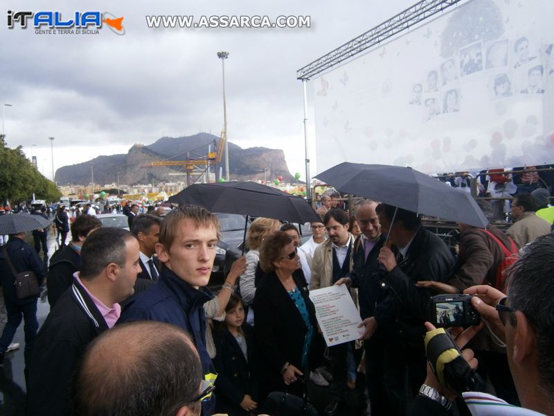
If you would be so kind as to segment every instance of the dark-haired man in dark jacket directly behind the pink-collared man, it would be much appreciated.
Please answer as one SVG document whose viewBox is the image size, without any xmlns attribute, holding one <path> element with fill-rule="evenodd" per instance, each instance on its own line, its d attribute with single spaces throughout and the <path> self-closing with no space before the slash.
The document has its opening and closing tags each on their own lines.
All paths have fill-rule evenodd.
<svg viewBox="0 0 554 416">
<path fill-rule="evenodd" d="M 73 284 L 73 273 L 81 268 L 81 248 L 87 236 L 95 229 L 102 227 L 96 217 L 90 215 L 79 216 L 71 224 L 71 242 L 62 245 L 50 259 L 48 267 L 48 303 L 52 308 L 58 298 Z"/>
</svg>

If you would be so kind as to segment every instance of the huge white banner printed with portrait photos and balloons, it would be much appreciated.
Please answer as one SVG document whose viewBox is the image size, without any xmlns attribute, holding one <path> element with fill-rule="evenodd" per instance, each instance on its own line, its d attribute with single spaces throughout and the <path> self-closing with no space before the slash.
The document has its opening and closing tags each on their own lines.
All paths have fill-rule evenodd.
<svg viewBox="0 0 554 416">
<path fill-rule="evenodd" d="M 554 1 L 474 0 L 314 80 L 317 170 L 554 162 Z"/>
</svg>

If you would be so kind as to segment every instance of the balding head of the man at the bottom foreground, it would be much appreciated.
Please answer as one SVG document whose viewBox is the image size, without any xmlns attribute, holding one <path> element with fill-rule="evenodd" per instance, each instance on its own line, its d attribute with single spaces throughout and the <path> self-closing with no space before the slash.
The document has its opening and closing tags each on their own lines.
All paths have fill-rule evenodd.
<svg viewBox="0 0 554 416">
<path fill-rule="evenodd" d="M 73 379 L 75 415 L 199 415 L 202 365 L 181 328 L 131 322 L 93 340 Z"/>
</svg>

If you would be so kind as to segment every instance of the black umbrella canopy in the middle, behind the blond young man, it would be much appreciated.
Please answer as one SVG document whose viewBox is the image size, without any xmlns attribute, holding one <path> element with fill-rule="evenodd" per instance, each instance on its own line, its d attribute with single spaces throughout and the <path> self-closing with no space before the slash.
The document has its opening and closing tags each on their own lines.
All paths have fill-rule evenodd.
<svg viewBox="0 0 554 416">
<path fill-rule="evenodd" d="M 303 198 L 256 182 L 193 184 L 171 196 L 168 202 L 202 205 L 212 212 L 276 218 L 291 223 L 321 221 Z"/>
</svg>

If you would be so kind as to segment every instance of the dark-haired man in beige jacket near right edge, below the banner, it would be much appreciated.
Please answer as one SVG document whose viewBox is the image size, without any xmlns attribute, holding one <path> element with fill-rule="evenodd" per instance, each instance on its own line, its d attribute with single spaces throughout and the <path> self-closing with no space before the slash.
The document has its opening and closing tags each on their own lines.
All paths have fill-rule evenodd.
<svg viewBox="0 0 554 416">
<path fill-rule="evenodd" d="M 510 218 L 514 224 L 506 234 L 512 237 L 519 248 L 550 232 L 551 225 L 535 214 L 536 209 L 537 202 L 530 193 L 521 193 L 512 200 Z"/>
</svg>

